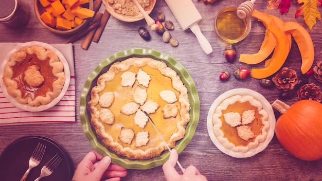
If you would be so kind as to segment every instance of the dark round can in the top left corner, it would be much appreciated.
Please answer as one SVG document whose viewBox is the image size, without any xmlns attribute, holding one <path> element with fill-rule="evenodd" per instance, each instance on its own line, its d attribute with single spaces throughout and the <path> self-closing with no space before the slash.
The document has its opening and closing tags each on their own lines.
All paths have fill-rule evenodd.
<svg viewBox="0 0 322 181">
<path fill-rule="evenodd" d="M 0 0 L 0 23 L 9 28 L 26 26 L 30 8 L 24 0 Z"/>
</svg>

